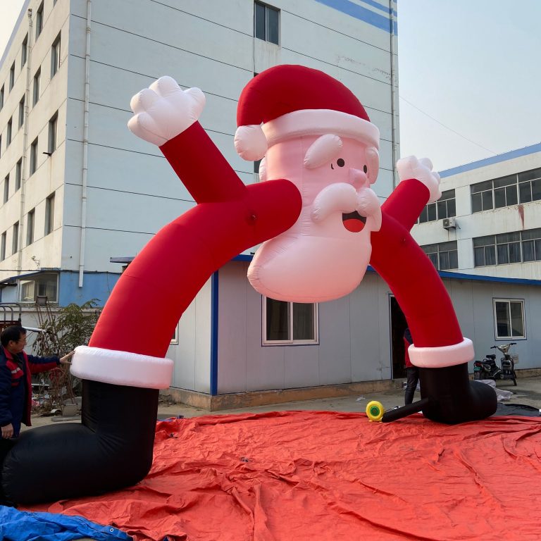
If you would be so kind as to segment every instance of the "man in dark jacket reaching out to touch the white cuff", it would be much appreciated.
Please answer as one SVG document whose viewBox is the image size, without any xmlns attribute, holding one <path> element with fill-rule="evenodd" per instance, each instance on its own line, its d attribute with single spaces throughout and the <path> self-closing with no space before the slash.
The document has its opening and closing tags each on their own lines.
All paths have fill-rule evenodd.
<svg viewBox="0 0 541 541">
<path fill-rule="evenodd" d="M 70 364 L 73 352 L 57 356 L 35 357 L 23 350 L 26 330 L 11 325 L 0 335 L 0 473 L 1 465 L 20 432 L 21 423 L 30 426 L 32 374 L 51 370 L 59 364 Z M 0 478 L 0 504 L 3 503 Z"/>
</svg>

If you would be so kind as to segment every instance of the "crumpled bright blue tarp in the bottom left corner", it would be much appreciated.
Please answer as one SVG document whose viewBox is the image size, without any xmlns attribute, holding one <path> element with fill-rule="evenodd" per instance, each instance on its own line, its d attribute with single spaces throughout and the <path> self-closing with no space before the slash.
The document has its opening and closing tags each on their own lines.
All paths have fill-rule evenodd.
<svg viewBox="0 0 541 541">
<path fill-rule="evenodd" d="M 70 541 L 91 537 L 97 541 L 131 541 L 127 533 L 87 521 L 82 516 L 30 513 L 0 505 L 0 539 L 3 541 Z"/>
</svg>

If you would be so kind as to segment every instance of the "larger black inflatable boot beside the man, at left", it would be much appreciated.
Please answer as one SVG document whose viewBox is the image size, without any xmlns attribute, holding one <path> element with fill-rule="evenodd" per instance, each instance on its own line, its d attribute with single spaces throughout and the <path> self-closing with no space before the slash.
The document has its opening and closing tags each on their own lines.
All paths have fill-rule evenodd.
<svg viewBox="0 0 541 541">
<path fill-rule="evenodd" d="M 2 487 L 18 504 L 99 495 L 135 485 L 152 465 L 158 390 L 83 381 L 82 423 L 23 432 Z"/>
</svg>

